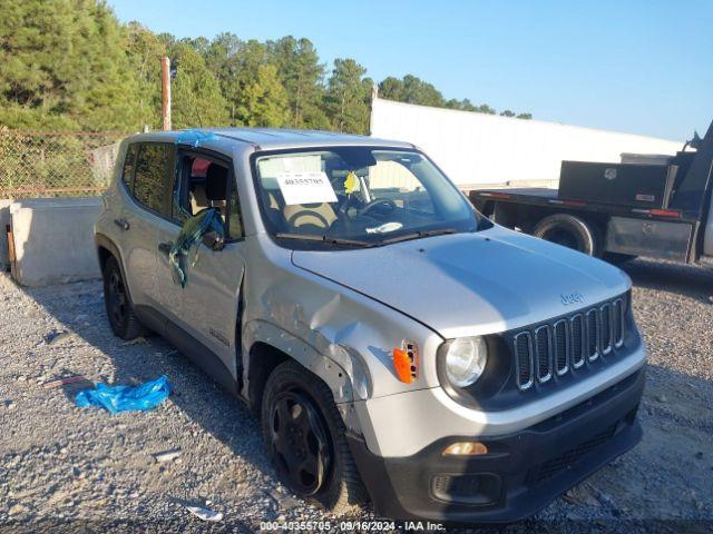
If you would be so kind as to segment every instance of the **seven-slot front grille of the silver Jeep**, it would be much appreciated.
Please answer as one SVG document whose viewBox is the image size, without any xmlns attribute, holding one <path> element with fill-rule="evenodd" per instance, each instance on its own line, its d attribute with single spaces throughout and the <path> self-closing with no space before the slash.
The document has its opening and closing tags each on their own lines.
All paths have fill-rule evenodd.
<svg viewBox="0 0 713 534">
<path fill-rule="evenodd" d="M 624 344 L 624 297 L 512 336 L 517 386 L 529 389 L 595 364 Z"/>
</svg>

